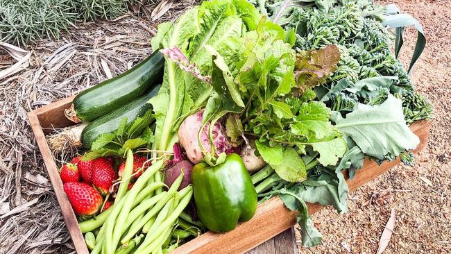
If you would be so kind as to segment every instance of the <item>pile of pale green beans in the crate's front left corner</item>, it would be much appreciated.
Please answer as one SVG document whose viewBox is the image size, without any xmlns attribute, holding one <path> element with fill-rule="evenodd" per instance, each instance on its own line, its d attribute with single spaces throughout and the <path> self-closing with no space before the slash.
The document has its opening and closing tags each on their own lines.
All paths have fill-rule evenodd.
<svg viewBox="0 0 451 254">
<path fill-rule="evenodd" d="M 200 235 L 196 226 L 201 224 L 183 212 L 192 199 L 192 186 L 178 191 L 182 183 L 180 175 L 167 188 L 160 176 L 163 166 L 164 160 L 154 161 L 128 190 L 133 153 L 127 152 L 114 204 L 79 223 L 92 254 L 162 253 L 176 248 L 188 237 Z"/>
</svg>

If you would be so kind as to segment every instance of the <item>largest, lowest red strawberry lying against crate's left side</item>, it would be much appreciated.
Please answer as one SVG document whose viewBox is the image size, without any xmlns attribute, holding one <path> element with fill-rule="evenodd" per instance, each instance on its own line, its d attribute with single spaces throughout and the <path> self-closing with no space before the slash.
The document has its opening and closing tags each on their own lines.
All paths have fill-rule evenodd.
<svg viewBox="0 0 451 254">
<path fill-rule="evenodd" d="M 74 212 L 78 215 L 94 215 L 102 206 L 102 196 L 87 183 L 65 183 L 63 186 Z"/>
</svg>

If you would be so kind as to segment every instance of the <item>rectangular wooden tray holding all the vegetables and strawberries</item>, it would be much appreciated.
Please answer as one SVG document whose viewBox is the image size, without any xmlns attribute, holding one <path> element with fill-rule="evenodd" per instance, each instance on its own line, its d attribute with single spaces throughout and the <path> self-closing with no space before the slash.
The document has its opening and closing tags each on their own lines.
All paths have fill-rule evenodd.
<svg viewBox="0 0 451 254">
<path fill-rule="evenodd" d="M 78 254 L 87 254 L 89 251 L 85 245 L 85 240 L 80 228 L 78 228 L 78 222 L 71 204 L 62 189 L 62 182 L 55 158 L 53 158 L 44 136 L 50 133 L 53 128 L 64 128 L 73 124 L 64 116 L 64 110 L 69 108 L 72 99 L 74 99 L 74 96 L 33 110 L 28 113 L 28 119 L 30 119 L 31 128 L 42 153 L 42 158 L 44 158 L 47 172 L 49 172 L 56 198 L 58 203 L 60 203 L 62 216 L 66 221 L 76 252 Z M 427 146 L 430 127 L 430 121 L 419 121 L 411 125 L 411 130 L 420 137 L 420 145 L 414 151 L 415 153 Z M 368 181 L 399 163 L 399 160 L 395 160 L 393 162 L 384 162 L 379 166 L 374 161 L 366 159 L 364 167 L 357 172 L 354 180 L 347 180 L 350 191 L 368 183 Z M 348 179 L 347 173 L 345 173 L 345 177 Z M 309 203 L 308 207 L 310 214 L 318 212 L 322 208 L 317 203 Z M 235 230 L 222 234 L 206 232 L 200 237 L 176 248 L 172 253 L 244 253 L 278 235 L 295 222 L 296 212 L 287 210 L 280 198 L 272 198 L 258 206 L 253 219 L 240 223 Z"/>
</svg>

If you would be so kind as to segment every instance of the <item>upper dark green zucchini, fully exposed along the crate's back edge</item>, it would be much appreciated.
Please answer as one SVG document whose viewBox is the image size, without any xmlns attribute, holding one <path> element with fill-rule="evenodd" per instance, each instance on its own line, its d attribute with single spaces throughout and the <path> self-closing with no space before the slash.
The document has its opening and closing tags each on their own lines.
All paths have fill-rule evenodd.
<svg viewBox="0 0 451 254">
<path fill-rule="evenodd" d="M 72 121 L 93 121 L 137 99 L 162 82 L 164 57 L 155 51 L 123 74 L 78 94 L 66 115 Z"/>
</svg>

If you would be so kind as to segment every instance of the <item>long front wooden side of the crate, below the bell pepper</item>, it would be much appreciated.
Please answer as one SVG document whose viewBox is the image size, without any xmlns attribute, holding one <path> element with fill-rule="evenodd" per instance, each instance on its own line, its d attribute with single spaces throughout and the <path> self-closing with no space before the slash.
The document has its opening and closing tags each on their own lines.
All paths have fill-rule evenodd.
<svg viewBox="0 0 451 254">
<path fill-rule="evenodd" d="M 415 153 L 427 146 L 430 126 L 431 123 L 428 121 L 420 121 L 411 125 L 411 130 L 420 138 L 420 145 L 415 149 Z M 345 172 L 346 182 L 350 191 L 368 183 L 368 181 L 380 176 L 380 174 L 399 163 L 399 160 L 395 160 L 378 165 L 373 160 L 366 159 L 364 167 L 357 172 L 353 180 L 349 180 L 348 174 Z M 322 209 L 322 206 L 318 203 L 308 203 L 307 205 L 310 214 Z M 271 198 L 269 201 L 259 205 L 253 219 L 240 223 L 235 230 L 222 234 L 206 232 L 200 237 L 176 248 L 171 254 L 245 253 L 291 227 L 295 221 L 296 212 L 291 212 L 285 208 L 280 198 Z"/>
</svg>

